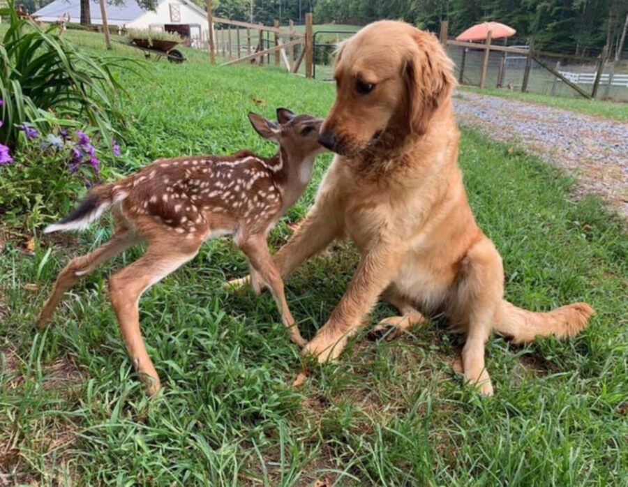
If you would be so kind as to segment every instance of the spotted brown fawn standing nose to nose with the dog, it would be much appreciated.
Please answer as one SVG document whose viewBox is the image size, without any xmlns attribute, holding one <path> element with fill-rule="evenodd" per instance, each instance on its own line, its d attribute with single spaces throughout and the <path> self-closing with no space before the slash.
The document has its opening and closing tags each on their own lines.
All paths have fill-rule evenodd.
<svg viewBox="0 0 628 487">
<path fill-rule="evenodd" d="M 191 260 L 202 243 L 232 235 L 248 257 L 251 283 L 267 285 L 281 311 L 290 339 L 305 340 L 285 301 L 283 281 L 267 246 L 267 234 L 301 196 L 311 178 L 314 160 L 324 148 L 317 142 L 321 119 L 280 108 L 278 123 L 248 114 L 264 139 L 279 144 L 275 156 L 251 151 L 232 156 L 188 156 L 158 159 L 130 176 L 91 190 L 79 206 L 45 232 L 84 230 L 109 208 L 114 234 L 103 246 L 75 257 L 59 273 L 38 326 L 46 324 L 70 286 L 106 260 L 140 241 L 147 250 L 133 264 L 109 279 L 109 295 L 124 343 L 149 394 L 160 380 L 140 333 L 138 301 L 151 285 Z"/>
</svg>

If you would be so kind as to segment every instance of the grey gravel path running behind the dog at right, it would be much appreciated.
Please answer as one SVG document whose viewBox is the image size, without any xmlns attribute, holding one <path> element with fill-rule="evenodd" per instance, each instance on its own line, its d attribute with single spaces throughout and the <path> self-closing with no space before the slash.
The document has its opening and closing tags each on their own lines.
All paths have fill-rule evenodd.
<svg viewBox="0 0 628 487">
<path fill-rule="evenodd" d="M 564 167 L 628 220 L 628 123 L 477 93 L 454 96 L 458 122 Z"/>
</svg>

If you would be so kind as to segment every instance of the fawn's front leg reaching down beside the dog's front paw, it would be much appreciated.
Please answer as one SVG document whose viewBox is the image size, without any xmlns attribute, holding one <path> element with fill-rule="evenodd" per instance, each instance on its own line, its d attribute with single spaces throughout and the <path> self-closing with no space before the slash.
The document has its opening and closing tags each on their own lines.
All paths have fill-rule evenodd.
<svg viewBox="0 0 628 487">
<path fill-rule="evenodd" d="M 239 248 L 246 254 L 248 260 L 251 262 L 251 267 L 259 273 L 260 278 L 264 280 L 264 283 L 270 288 L 277 308 L 281 313 L 281 320 L 285 327 L 290 330 L 290 340 L 303 347 L 306 344 L 306 340 L 301 336 L 299 328 L 294 324 L 294 318 L 290 313 L 290 308 L 285 301 L 285 294 L 283 291 L 283 280 L 279 275 L 279 270 L 273 262 L 266 239 L 263 235 L 251 235 L 246 240 L 239 243 Z"/>
</svg>

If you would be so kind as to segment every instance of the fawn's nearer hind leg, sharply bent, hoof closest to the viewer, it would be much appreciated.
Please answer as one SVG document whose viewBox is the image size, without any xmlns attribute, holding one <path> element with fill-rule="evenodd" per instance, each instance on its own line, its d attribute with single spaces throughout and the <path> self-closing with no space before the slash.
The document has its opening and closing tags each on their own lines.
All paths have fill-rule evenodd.
<svg viewBox="0 0 628 487">
<path fill-rule="evenodd" d="M 185 250 L 188 252 L 185 253 Z M 176 241 L 151 245 L 142 257 L 118 271 L 109 280 L 110 299 L 118 317 L 126 350 L 135 370 L 140 373 L 142 382 L 146 384 L 149 395 L 159 391 L 160 381 L 142 340 L 137 304 L 144 291 L 191 260 L 197 251 L 198 246 L 194 250 L 189 246 L 182 249 Z"/>
</svg>

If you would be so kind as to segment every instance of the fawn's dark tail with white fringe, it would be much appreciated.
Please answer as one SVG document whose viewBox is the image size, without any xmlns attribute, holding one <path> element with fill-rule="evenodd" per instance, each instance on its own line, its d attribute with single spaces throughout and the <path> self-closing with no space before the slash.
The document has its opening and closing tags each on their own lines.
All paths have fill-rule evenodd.
<svg viewBox="0 0 628 487">
<path fill-rule="evenodd" d="M 57 223 L 48 225 L 44 233 L 67 232 L 68 230 L 85 230 L 90 222 L 98 219 L 103 211 L 114 202 L 124 200 L 126 192 L 119 191 L 114 195 L 113 184 L 97 186 L 83 198 L 82 202 Z"/>
</svg>

